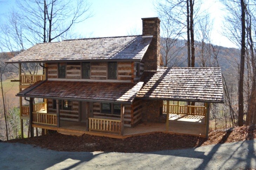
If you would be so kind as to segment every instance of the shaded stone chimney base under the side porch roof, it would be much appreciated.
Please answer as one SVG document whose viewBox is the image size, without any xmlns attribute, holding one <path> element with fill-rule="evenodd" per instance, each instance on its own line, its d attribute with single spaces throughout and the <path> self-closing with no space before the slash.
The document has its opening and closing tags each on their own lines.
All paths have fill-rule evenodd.
<svg viewBox="0 0 256 170">
<path fill-rule="evenodd" d="M 142 100 L 142 121 L 157 122 L 162 114 L 163 101 Z"/>
</svg>

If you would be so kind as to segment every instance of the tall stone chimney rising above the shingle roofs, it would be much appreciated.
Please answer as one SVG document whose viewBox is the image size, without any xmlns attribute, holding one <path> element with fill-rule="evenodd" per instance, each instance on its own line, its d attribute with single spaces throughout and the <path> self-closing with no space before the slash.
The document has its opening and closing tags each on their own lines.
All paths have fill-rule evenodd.
<svg viewBox="0 0 256 170">
<path fill-rule="evenodd" d="M 153 36 L 153 39 L 142 61 L 144 71 L 156 71 L 160 66 L 160 19 L 158 17 L 142 18 L 142 37 Z"/>
</svg>

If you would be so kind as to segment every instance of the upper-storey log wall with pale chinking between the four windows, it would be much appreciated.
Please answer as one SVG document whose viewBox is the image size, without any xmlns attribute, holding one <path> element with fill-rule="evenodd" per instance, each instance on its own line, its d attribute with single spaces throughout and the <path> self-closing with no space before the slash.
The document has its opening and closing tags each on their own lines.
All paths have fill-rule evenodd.
<svg viewBox="0 0 256 170">
<path fill-rule="evenodd" d="M 58 63 L 47 63 L 48 79 L 58 80 Z M 66 65 L 66 79 L 76 79 L 79 81 L 105 81 L 105 82 L 134 82 L 136 77 L 136 67 L 134 62 L 117 62 L 117 80 L 107 79 L 108 62 L 90 62 L 90 79 L 81 79 L 81 62 L 68 62 Z M 135 67 L 135 68 L 134 68 Z M 141 70 L 144 65 L 141 64 Z M 142 73 L 141 73 L 142 74 Z"/>
</svg>

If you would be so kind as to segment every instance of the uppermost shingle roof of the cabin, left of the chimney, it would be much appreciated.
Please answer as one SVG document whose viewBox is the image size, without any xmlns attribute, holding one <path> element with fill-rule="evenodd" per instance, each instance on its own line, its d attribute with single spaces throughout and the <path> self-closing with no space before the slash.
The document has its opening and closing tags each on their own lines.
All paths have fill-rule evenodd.
<svg viewBox="0 0 256 170">
<path fill-rule="evenodd" d="M 124 36 L 64 40 L 36 44 L 8 63 L 126 59 L 140 61 L 152 36 Z"/>
</svg>

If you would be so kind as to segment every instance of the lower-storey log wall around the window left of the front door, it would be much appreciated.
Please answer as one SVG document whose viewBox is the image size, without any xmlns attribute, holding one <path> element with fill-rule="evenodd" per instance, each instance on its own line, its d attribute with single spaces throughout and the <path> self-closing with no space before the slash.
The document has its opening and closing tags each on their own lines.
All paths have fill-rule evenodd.
<svg viewBox="0 0 256 170">
<path fill-rule="evenodd" d="M 56 114 L 56 109 L 53 109 L 53 99 L 48 99 L 48 113 Z M 79 121 L 79 102 L 72 102 L 72 110 L 60 109 L 60 120 Z"/>
</svg>

